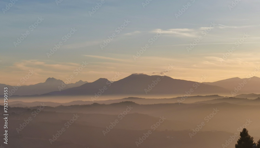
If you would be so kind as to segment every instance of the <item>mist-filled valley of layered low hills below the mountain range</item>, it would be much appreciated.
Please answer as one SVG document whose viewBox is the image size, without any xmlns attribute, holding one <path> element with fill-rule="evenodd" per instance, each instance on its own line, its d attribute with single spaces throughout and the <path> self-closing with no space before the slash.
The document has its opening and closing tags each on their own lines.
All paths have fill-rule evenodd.
<svg viewBox="0 0 260 148">
<path fill-rule="evenodd" d="M 10 102 L 9 146 L 234 147 L 239 136 L 232 137 L 243 128 L 256 141 L 260 139 L 259 99 L 120 97 L 94 102 L 69 102 L 68 96 L 63 102 L 59 100 L 64 97 Z M 239 104 L 241 101 L 254 103 Z M 232 142 L 226 143 L 230 138 Z"/>
</svg>

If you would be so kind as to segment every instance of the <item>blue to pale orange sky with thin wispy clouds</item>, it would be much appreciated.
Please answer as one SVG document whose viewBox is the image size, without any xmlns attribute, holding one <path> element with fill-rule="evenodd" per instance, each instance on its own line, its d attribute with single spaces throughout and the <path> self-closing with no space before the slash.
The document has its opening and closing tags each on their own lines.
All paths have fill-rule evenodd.
<svg viewBox="0 0 260 148">
<path fill-rule="evenodd" d="M 258 0 L 10 3 L 0 1 L 2 84 L 165 71 L 174 79 L 214 82 L 245 78 L 260 66 Z"/>
</svg>

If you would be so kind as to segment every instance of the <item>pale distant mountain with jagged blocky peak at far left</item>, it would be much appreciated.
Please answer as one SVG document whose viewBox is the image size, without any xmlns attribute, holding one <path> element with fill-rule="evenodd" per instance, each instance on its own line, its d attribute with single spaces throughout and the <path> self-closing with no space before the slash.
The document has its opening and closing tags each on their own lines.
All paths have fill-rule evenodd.
<svg viewBox="0 0 260 148">
<path fill-rule="evenodd" d="M 59 91 L 59 86 L 60 88 L 62 88 L 61 90 L 64 89 L 68 89 L 68 88 L 73 88 L 73 87 L 78 87 L 81 86 L 83 84 L 88 83 L 87 81 L 83 82 L 83 81 L 78 81 L 76 83 L 69 83 L 69 84 L 65 84 L 62 80 L 57 80 L 55 78 L 48 78 L 45 82 L 43 83 L 38 83 L 38 84 L 34 84 L 34 85 L 23 85 L 21 87 L 17 87 L 17 86 L 10 86 L 10 85 L 6 85 L 6 84 L 0 84 L 0 89 L 4 90 L 4 87 L 8 87 L 9 88 L 9 95 L 41 95 L 41 94 L 45 94 L 45 93 L 49 93 L 52 91 Z M 66 87 L 63 87 L 66 86 Z M 0 92 L 0 95 L 3 95 L 4 91 Z"/>
</svg>

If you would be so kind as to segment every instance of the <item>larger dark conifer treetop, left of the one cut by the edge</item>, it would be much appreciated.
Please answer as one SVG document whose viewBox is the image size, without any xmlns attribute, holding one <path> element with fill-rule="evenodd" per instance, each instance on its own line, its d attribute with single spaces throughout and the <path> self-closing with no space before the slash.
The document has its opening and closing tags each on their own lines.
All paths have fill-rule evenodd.
<svg viewBox="0 0 260 148">
<path fill-rule="evenodd" d="M 240 132 L 240 138 L 237 140 L 235 148 L 252 148 L 254 146 L 254 138 L 248 134 L 248 130 L 244 128 Z"/>
</svg>

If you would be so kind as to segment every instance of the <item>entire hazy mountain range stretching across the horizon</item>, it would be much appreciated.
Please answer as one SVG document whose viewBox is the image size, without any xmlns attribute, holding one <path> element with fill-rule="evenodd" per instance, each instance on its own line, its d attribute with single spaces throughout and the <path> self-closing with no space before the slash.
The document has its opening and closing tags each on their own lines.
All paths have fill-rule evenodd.
<svg viewBox="0 0 260 148">
<path fill-rule="evenodd" d="M 64 95 L 226 95 L 231 96 L 231 91 L 236 95 L 260 94 L 260 78 L 251 77 L 241 79 L 238 77 L 221 80 L 217 82 L 194 82 L 180 79 L 173 79 L 168 76 L 132 74 L 121 80 L 111 82 L 108 79 L 100 78 L 94 82 L 78 81 L 67 84 L 62 80 L 48 78 L 44 83 L 21 86 L 13 95 L 40 95 L 40 96 L 64 96 Z M 0 89 L 13 86 L 0 84 Z M 59 88 L 61 91 L 59 90 Z M 237 91 L 236 91 L 237 89 Z M 0 93 L 3 95 L 3 92 Z M 240 96 L 242 97 L 242 96 Z M 243 97 L 245 98 L 245 97 Z M 256 97 L 257 98 L 257 97 Z"/>
</svg>

